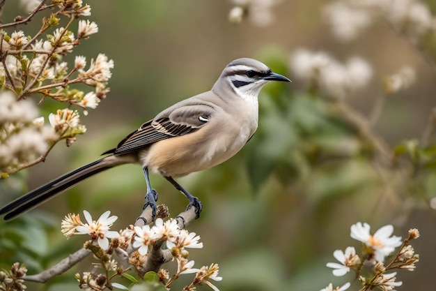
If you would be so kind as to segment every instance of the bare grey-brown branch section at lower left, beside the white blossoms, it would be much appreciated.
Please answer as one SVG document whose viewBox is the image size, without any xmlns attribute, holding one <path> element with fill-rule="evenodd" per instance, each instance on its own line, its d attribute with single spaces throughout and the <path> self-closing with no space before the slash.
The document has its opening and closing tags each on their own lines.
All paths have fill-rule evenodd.
<svg viewBox="0 0 436 291">
<path fill-rule="evenodd" d="M 81 248 L 79 251 L 69 255 L 68 258 L 61 260 L 61 262 L 55 264 L 50 269 L 42 271 L 40 274 L 24 276 L 23 279 L 24 281 L 45 283 L 54 276 L 58 276 L 63 274 L 65 271 L 68 271 L 72 268 L 72 266 L 86 258 L 86 256 L 89 254 L 91 254 L 91 251 L 87 250 L 86 248 Z"/>
</svg>

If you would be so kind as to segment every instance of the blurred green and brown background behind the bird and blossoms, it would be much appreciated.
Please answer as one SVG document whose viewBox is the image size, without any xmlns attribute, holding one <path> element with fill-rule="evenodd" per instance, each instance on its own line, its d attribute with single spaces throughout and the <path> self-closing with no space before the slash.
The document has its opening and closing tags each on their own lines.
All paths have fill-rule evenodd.
<svg viewBox="0 0 436 291">
<path fill-rule="evenodd" d="M 13 2 L 6 3 L 8 11 L 17 13 L 3 15 L 4 22 L 24 14 Z M 267 8 L 271 22 L 246 17 L 235 24 L 228 20 L 235 7 L 232 1 L 88 0 L 90 20 L 98 24 L 99 33 L 79 45 L 75 55 L 89 59 L 102 52 L 113 59 L 111 91 L 87 117 L 81 114 L 88 130 L 72 147 L 58 144 L 45 163 L 0 181 L 19 185 L 16 193 L 1 193 L 1 204 L 94 161 L 167 106 L 208 91 L 233 59 L 252 57 L 293 83 L 268 84 L 263 89 L 258 133 L 237 156 L 178 179 L 204 207 L 201 218 L 188 229 L 201 236 L 205 247 L 191 251 L 189 258 L 196 266 L 219 264 L 224 277 L 217 283 L 220 290 L 320 290 L 331 281 L 341 284 L 354 279 L 352 274 L 334 278 L 325 267 L 335 261 L 334 250 L 359 246 L 350 238 L 350 225 L 367 222 L 375 232 L 392 224 L 394 234 L 401 237 L 416 227 L 421 238 L 413 246 L 421 255 L 420 262 L 416 271 L 398 273 L 403 281 L 398 290 L 428 290 L 434 285 L 436 248 L 435 210 L 430 207 L 436 188 L 434 168 L 413 160 L 419 154 L 407 154 L 410 148 L 404 149 L 407 153 L 398 163 L 385 165 L 359 122 L 352 120 L 371 115 L 379 98 L 384 98 L 382 112 L 368 135 L 382 141 L 389 158 L 398 144 L 420 140 L 435 105 L 436 71 L 430 65 L 436 54 L 433 43 L 429 40 L 424 47 L 429 64 L 423 50 L 380 17 L 358 38 L 338 40 L 325 17 L 327 3 L 283 0 Z M 433 1 L 423 3 L 436 14 Z M 372 67 L 371 80 L 345 100 L 326 97 L 295 76 L 293 53 L 302 48 L 327 52 L 341 62 L 356 56 L 366 59 Z M 414 69 L 414 83 L 380 97 L 386 91 L 384 77 L 404 66 Z M 336 102 L 352 109 L 348 112 L 351 118 L 330 107 Z M 48 113 L 50 106 L 42 110 Z M 427 146 L 432 142 L 430 135 Z M 426 157 L 426 162 L 435 161 L 434 152 Z M 172 216 L 185 209 L 185 198 L 165 179 L 153 174 L 151 180 L 159 193 L 158 202 L 168 205 Z M 20 240 L 18 253 L 9 253 L 12 246 L 8 244 L 3 252 L 0 249 L 0 267 L 24 261 L 32 274 L 51 266 L 79 248 L 84 239 L 65 241 L 59 231 L 65 214 L 86 209 L 96 218 L 110 210 L 118 216 L 113 228 L 121 229 L 134 223 L 145 193 L 141 168 L 124 165 L 7 223 L 8 229 L 15 227 L 14 232 L 5 233 L 6 223 L 1 221 L 3 241 L 7 236 L 25 238 Z M 17 231 L 20 225 L 26 227 Z M 40 225 L 47 231 L 38 230 Z M 31 285 L 30 290 L 77 290 L 72 274 L 88 271 L 81 267 L 48 285 Z M 187 281 L 176 282 L 173 290 L 180 290 L 183 283 Z M 352 286 L 351 290 L 358 290 L 358 284 Z"/>
</svg>

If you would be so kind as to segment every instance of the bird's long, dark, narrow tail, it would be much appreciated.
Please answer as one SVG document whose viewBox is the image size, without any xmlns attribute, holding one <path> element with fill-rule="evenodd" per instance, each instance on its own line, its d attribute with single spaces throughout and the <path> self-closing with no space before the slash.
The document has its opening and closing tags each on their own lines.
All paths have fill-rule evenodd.
<svg viewBox="0 0 436 291">
<path fill-rule="evenodd" d="M 68 188 L 79 184 L 88 177 L 110 169 L 111 167 L 115 167 L 116 165 L 133 162 L 134 161 L 129 156 L 107 156 L 105 158 L 100 158 L 98 161 L 79 167 L 67 174 L 63 174 L 61 177 L 49 181 L 47 184 L 30 191 L 13 202 L 10 202 L 0 209 L 0 215 L 6 214 L 4 220 L 9 221 L 46 202 Z"/>
</svg>

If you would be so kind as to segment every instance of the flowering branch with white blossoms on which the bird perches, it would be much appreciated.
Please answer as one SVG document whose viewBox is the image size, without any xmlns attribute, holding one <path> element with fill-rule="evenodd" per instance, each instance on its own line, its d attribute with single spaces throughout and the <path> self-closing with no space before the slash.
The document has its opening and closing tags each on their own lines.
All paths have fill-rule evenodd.
<svg viewBox="0 0 436 291">
<path fill-rule="evenodd" d="M 116 276 L 128 276 L 126 274 L 130 269 L 134 269 L 142 278 L 148 272 L 152 271 L 165 276 L 165 272 L 161 270 L 162 264 L 171 262 L 176 258 L 178 261 L 178 271 L 165 283 L 167 288 L 175 281 L 180 274 L 188 274 L 192 272 L 200 272 L 201 269 L 193 269 L 194 261 L 189 261 L 185 248 L 202 248 L 203 244 L 198 243 L 200 237 L 195 236 L 195 233 L 189 233 L 183 227 L 187 226 L 195 219 L 196 209 L 191 207 L 180 213 L 176 219 L 162 221 L 162 217 L 168 216 L 168 209 L 164 205 L 157 207 L 157 221 L 153 227 L 148 224 L 143 224 L 144 221 L 152 221 L 151 207 L 146 207 L 141 214 L 141 218 L 137 219 L 136 225 L 120 232 L 109 231 L 109 227 L 116 221 L 116 216 L 109 216 L 110 212 L 106 211 L 98 221 L 93 221 L 88 211 L 84 211 L 84 216 L 87 223 L 82 223 L 79 215 L 69 214 L 65 216 L 62 222 L 62 232 L 67 237 L 74 234 L 89 234 L 91 241 L 87 241 L 84 247 L 69 255 L 68 258 L 61 260 L 53 267 L 42 271 L 40 274 L 20 276 L 20 280 L 45 283 L 54 276 L 59 276 L 65 271 L 68 271 L 78 262 L 93 253 L 95 258 L 100 260 L 100 265 L 104 269 L 104 276 L 93 279 L 91 274 L 85 273 L 83 276 L 77 275 L 80 285 L 91 287 L 100 285 L 100 288 L 113 285 L 111 279 Z M 146 219 L 146 220 L 144 220 Z M 110 240 L 110 242 L 109 242 Z M 166 243 L 166 248 L 164 248 Z M 111 255 L 115 253 L 117 260 L 111 260 Z M 123 268 L 117 267 L 118 265 Z M 217 265 L 205 275 L 204 270 L 201 271 L 201 278 L 198 275 L 194 278 L 193 285 L 201 283 L 210 284 L 208 278 L 214 279 L 217 275 Z M 115 271 L 111 274 L 111 271 Z M 25 273 L 25 272 L 24 272 Z M 215 274 L 215 275 L 213 275 Z M 220 278 L 220 277 L 219 277 Z M 215 278 L 217 279 L 217 278 Z M 100 281 L 101 282 L 100 282 Z M 162 281 L 165 281 L 162 278 Z M 208 283 L 206 283 L 206 281 Z M 100 282 L 100 283 L 98 283 Z M 114 283 L 116 284 L 116 283 Z M 191 289 L 187 290 L 192 290 Z M 102 288 L 104 289 L 104 288 Z M 100 289 L 100 290 L 102 290 Z"/>
</svg>

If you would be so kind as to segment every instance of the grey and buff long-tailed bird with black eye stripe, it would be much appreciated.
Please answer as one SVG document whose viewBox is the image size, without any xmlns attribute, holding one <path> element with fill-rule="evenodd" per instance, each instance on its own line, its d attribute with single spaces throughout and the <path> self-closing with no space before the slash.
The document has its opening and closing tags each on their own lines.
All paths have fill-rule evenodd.
<svg viewBox="0 0 436 291">
<path fill-rule="evenodd" d="M 269 82 L 291 82 L 273 73 L 260 61 L 235 59 L 228 64 L 210 91 L 166 108 L 154 119 L 127 135 L 103 158 L 49 181 L 0 209 L 9 221 L 88 177 L 127 163 L 141 165 L 147 193 L 143 209 L 156 213 L 157 191 L 149 170 L 162 175 L 187 197 L 187 209 L 195 207 L 196 218 L 203 205 L 174 178 L 219 165 L 234 156 L 258 127 L 258 94 Z"/>
</svg>

